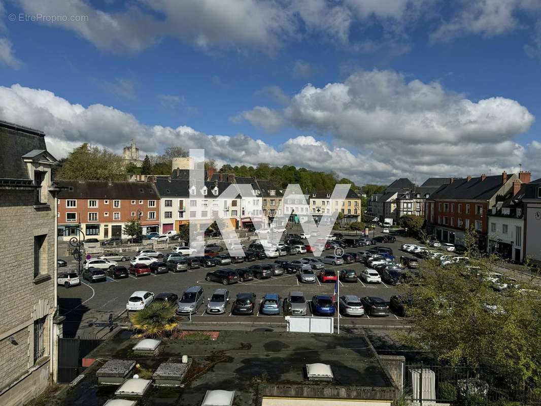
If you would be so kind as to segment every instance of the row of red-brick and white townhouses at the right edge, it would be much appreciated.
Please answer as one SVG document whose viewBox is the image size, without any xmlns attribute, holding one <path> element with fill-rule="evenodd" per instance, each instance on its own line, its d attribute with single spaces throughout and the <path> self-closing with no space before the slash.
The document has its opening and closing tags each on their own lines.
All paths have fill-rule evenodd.
<svg viewBox="0 0 541 406">
<path fill-rule="evenodd" d="M 541 179 L 531 173 L 451 179 L 425 203 L 427 233 L 464 244 L 466 230 L 476 231 L 481 251 L 522 262 L 541 261 Z"/>
</svg>

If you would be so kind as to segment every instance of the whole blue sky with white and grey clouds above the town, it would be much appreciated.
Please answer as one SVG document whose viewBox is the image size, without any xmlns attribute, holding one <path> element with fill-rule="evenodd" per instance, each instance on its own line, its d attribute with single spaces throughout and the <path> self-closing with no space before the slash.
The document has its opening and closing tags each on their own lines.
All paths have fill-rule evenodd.
<svg viewBox="0 0 541 406">
<path fill-rule="evenodd" d="M 58 156 L 133 138 L 361 184 L 541 176 L 541 2 L 0 4 L 0 119 Z"/>
</svg>

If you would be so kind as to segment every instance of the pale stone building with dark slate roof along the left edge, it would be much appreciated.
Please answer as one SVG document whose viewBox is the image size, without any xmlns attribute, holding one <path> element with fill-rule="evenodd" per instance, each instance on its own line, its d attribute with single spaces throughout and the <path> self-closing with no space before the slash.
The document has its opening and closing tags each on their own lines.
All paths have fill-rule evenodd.
<svg viewBox="0 0 541 406">
<path fill-rule="evenodd" d="M 0 404 L 21 405 L 54 377 L 56 192 L 41 131 L 0 121 Z M 15 265 L 15 266 L 14 266 Z"/>
</svg>

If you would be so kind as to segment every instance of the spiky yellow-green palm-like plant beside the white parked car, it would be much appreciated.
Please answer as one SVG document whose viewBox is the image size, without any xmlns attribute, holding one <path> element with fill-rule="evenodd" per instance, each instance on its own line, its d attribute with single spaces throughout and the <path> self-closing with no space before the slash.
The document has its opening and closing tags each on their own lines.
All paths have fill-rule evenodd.
<svg viewBox="0 0 541 406">
<path fill-rule="evenodd" d="M 153 302 L 130 316 L 134 330 L 143 337 L 169 337 L 178 327 L 176 309 L 167 302 Z"/>
</svg>

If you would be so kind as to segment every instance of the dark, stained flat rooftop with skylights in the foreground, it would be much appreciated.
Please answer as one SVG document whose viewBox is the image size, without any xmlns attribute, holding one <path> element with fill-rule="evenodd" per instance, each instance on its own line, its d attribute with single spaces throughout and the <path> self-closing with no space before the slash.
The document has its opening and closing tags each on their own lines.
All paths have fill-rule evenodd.
<svg viewBox="0 0 541 406">
<path fill-rule="evenodd" d="M 195 406 L 213 389 L 234 390 L 235 405 L 239 406 L 258 405 L 263 394 L 333 397 L 333 393 L 346 396 L 344 390 L 348 390 L 347 396 L 359 394 L 360 398 L 374 391 L 387 395 L 394 391 L 372 346 L 361 335 L 221 331 L 215 341 L 163 340 L 158 357 L 134 356 L 131 348 L 137 341 L 117 335 L 86 358 L 99 359 L 96 363 L 100 366 L 108 359 L 133 359 L 152 372 L 171 357 L 187 355 L 193 360 L 183 388 L 152 388 L 141 405 Z M 333 381 L 308 381 L 305 366 L 313 363 L 331 365 Z M 95 366 L 91 368 L 61 404 L 100 406 L 113 398 L 114 388 L 96 387 Z M 95 400 L 87 403 L 90 394 Z"/>
</svg>

